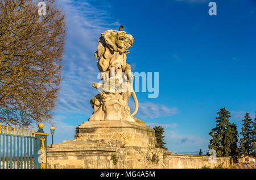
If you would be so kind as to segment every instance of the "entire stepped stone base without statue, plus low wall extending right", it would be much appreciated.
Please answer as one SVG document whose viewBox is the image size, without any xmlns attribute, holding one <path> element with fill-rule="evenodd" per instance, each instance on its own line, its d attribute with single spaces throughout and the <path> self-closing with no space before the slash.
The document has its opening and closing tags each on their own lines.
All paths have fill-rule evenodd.
<svg viewBox="0 0 256 180">
<path fill-rule="evenodd" d="M 155 147 L 155 132 L 139 122 L 84 122 L 74 140 L 47 146 L 47 168 L 151 169 L 228 168 L 229 158 L 209 163 L 207 156 L 172 154 Z"/>
</svg>

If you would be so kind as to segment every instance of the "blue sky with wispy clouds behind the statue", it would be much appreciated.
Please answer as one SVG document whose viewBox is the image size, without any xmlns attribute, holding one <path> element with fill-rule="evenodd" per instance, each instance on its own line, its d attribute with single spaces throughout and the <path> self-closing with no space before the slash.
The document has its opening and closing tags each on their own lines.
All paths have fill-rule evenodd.
<svg viewBox="0 0 256 180">
<path fill-rule="evenodd" d="M 169 151 L 205 153 L 222 107 L 240 132 L 245 112 L 254 118 L 256 110 L 256 1 L 214 1 L 217 16 L 209 16 L 209 2 L 61 0 L 68 27 L 63 83 L 55 117 L 44 128 L 55 125 L 55 143 L 73 139 L 92 114 L 97 39 L 120 24 L 135 38 L 127 55 L 133 72 L 159 72 L 159 97 L 137 93 L 135 117 L 162 125 Z"/>
</svg>

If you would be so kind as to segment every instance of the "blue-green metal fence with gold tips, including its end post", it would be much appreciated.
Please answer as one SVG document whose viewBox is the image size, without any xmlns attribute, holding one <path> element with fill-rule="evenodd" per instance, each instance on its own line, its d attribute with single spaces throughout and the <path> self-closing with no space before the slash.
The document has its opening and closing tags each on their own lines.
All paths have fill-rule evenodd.
<svg viewBox="0 0 256 180">
<path fill-rule="evenodd" d="M 43 124 L 32 128 L 12 128 L 0 124 L 0 169 L 46 168 L 46 139 Z"/>
</svg>

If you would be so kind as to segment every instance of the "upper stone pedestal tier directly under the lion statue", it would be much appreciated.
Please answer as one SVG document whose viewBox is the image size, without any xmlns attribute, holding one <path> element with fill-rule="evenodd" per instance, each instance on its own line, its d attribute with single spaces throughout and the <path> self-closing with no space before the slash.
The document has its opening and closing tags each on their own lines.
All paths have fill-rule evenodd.
<svg viewBox="0 0 256 180">
<path fill-rule="evenodd" d="M 124 146 L 155 147 L 155 131 L 142 122 L 106 120 L 76 127 L 75 140 L 117 140 Z"/>
</svg>

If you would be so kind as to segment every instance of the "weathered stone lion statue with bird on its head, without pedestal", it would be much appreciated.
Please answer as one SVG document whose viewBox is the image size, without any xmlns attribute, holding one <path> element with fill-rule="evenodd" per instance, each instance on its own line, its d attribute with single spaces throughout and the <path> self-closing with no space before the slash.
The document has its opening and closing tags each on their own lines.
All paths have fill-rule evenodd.
<svg viewBox="0 0 256 180">
<path fill-rule="evenodd" d="M 138 111 L 138 100 L 133 90 L 133 75 L 131 66 L 126 64 L 126 55 L 133 46 L 132 35 L 123 31 L 123 25 L 119 31 L 108 30 L 101 34 L 98 39 L 97 51 L 94 54 L 97 66 L 101 74 L 102 83 L 93 83 L 93 87 L 100 90 L 90 100 L 94 109 L 89 121 L 102 120 L 127 120 L 135 122 L 133 116 Z M 133 97 L 135 110 L 133 114 L 127 102 Z"/>
</svg>

